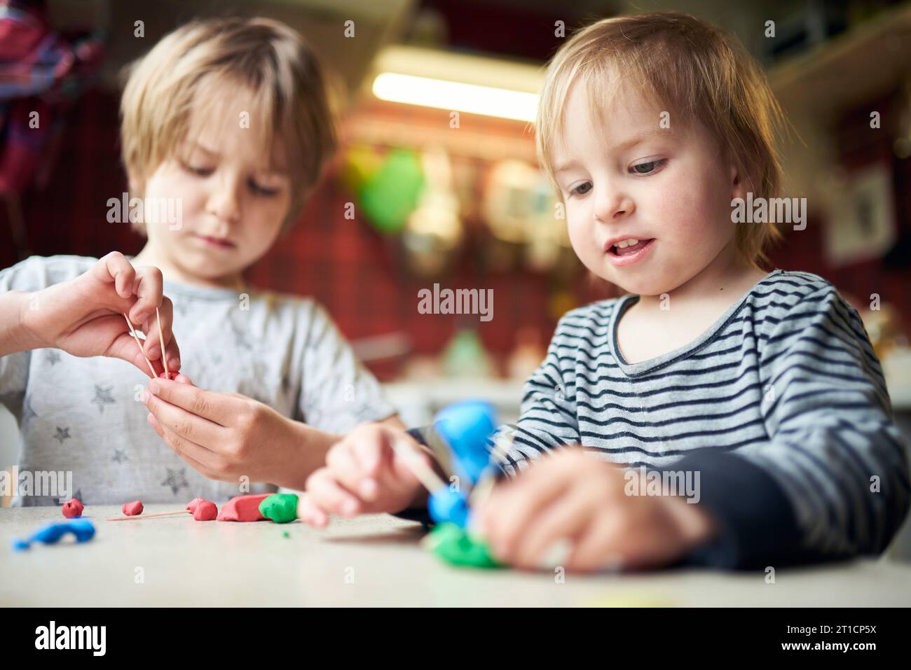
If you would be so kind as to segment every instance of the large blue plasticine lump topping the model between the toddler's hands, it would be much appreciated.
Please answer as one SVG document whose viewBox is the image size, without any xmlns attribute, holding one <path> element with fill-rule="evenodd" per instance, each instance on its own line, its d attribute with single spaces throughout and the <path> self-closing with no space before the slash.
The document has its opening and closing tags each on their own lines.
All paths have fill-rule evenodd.
<svg viewBox="0 0 911 670">
<path fill-rule="evenodd" d="M 465 401 L 439 411 L 435 430 L 455 455 L 460 474 L 474 485 L 490 466 L 487 439 L 496 431 L 496 411 L 485 401 Z"/>
</svg>

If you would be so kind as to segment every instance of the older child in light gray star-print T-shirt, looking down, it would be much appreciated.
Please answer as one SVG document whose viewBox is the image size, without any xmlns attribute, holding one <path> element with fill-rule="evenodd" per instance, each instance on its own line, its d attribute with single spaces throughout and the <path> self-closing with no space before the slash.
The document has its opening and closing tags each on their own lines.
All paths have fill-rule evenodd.
<svg viewBox="0 0 911 670">
<path fill-rule="evenodd" d="M 136 222 L 148 243 L 132 263 L 163 274 L 181 341 L 171 362 L 197 386 L 155 379 L 146 390 L 116 361 L 55 350 L 5 357 L 0 398 L 22 417 L 20 468 L 73 471 L 89 504 L 224 500 L 267 490 L 257 482 L 302 488 L 336 433 L 401 425 L 319 305 L 242 276 L 335 148 L 301 37 L 261 18 L 183 25 L 131 68 L 121 113 L 130 195 L 158 215 Z M 0 272 L 0 289 L 44 289 L 95 262 L 28 259 Z"/>
</svg>

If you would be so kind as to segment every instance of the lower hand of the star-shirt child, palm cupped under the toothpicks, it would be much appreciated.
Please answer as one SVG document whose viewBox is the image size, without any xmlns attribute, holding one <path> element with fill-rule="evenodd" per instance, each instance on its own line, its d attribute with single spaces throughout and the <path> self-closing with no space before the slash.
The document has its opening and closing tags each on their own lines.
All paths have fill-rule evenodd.
<svg viewBox="0 0 911 670">
<path fill-rule="evenodd" d="M 159 437 L 195 470 L 222 482 L 246 476 L 302 489 L 338 439 L 240 393 L 199 389 L 183 375 L 150 380 L 143 400 Z"/>
</svg>

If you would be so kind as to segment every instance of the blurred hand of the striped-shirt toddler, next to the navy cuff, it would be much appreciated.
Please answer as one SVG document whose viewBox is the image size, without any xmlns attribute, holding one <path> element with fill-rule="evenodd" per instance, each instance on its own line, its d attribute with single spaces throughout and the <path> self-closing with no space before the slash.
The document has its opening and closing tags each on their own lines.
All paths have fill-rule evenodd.
<svg viewBox="0 0 911 670">
<path fill-rule="evenodd" d="M 666 565 L 711 538 L 699 504 L 627 495 L 624 472 L 568 447 L 498 484 L 478 510 L 478 530 L 499 560 L 529 569 L 568 540 L 564 567 L 582 572 Z"/>
</svg>

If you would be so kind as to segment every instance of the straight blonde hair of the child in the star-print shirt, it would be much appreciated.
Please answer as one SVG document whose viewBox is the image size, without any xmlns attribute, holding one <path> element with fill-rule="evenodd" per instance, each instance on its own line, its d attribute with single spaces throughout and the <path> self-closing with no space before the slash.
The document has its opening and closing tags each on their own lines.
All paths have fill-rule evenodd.
<svg viewBox="0 0 911 670">
<path fill-rule="evenodd" d="M 142 195 L 149 176 L 175 155 L 191 112 L 207 114 L 232 88 L 246 87 L 258 106 L 246 111 L 263 151 L 271 156 L 276 135 L 287 151 L 292 198 L 282 227 L 292 224 L 337 141 L 322 70 L 298 33 L 268 18 L 193 21 L 164 36 L 127 75 L 120 142 L 131 189 Z M 200 95 L 213 90 L 220 95 Z"/>
</svg>

